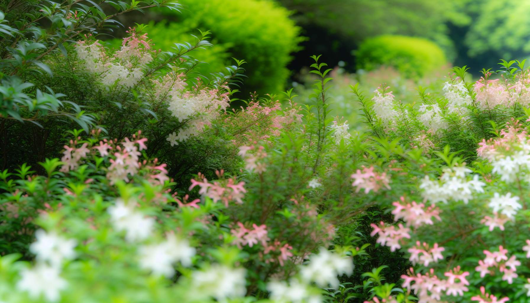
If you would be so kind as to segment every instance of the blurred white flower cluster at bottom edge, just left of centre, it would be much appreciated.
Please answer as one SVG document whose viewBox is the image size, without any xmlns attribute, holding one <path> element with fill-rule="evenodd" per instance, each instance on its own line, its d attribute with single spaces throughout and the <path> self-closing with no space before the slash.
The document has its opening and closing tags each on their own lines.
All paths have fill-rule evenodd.
<svg viewBox="0 0 530 303">
<path fill-rule="evenodd" d="M 214 264 L 205 271 L 194 271 L 191 275 L 196 293 L 223 300 L 243 297 L 246 293 L 245 270 Z"/>
</svg>

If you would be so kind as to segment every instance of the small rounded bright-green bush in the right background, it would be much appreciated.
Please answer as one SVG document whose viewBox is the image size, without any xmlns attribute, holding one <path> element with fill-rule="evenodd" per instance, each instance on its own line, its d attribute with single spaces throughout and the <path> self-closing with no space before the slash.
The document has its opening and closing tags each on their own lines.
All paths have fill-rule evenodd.
<svg viewBox="0 0 530 303">
<path fill-rule="evenodd" d="M 355 51 L 357 68 L 392 66 L 404 76 L 422 77 L 447 64 L 444 51 L 423 38 L 383 35 L 363 41 Z"/>
</svg>

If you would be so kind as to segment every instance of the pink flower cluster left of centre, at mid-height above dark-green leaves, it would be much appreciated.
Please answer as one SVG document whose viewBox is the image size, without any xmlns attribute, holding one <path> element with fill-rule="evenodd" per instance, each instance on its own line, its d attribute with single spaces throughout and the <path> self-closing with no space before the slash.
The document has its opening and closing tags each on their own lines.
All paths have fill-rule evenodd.
<svg viewBox="0 0 530 303">
<path fill-rule="evenodd" d="M 236 183 L 236 177 L 233 178 L 223 178 L 224 171 L 216 171 L 217 177 L 219 180 L 209 183 L 208 180 L 200 172 L 197 174 L 197 179 L 191 179 L 191 186 L 189 190 L 193 189 L 195 186 L 199 186 L 199 194 L 206 195 L 217 203 L 222 201 L 225 206 L 228 207 L 228 203 L 234 201 L 235 203 L 242 204 L 241 200 L 246 193 L 246 189 L 243 187 L 244 182 Z"/>
</svg>

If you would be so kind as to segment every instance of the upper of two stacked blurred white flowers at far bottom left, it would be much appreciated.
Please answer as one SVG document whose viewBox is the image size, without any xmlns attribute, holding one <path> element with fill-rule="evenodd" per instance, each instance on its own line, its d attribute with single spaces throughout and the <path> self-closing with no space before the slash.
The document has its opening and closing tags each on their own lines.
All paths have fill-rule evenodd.
<svg viewBox="0 0 530 303">
<path fill-rule="evenodd" d="M 37 255 L 38 261 L 60 266 L 63 259 L 75 258 L 75 240 L 60 237 L 55 231 L 46 232 L 42 229 L 35 232 L 35 237 L 37 240 L 30 245 L 30 251 Z"/>
</svg>

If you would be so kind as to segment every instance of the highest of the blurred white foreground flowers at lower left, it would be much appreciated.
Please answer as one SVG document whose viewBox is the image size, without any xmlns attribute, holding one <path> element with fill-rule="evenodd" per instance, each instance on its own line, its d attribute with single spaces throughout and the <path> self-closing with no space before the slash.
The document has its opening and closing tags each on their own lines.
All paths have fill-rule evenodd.
<svg viewBox="0 0 530 303">
<path fill-rule="evenodd" d="M 155 220 L 146 218 L 141 212 L 134 210 L 132 204 L 125 205 L 117 200 L 116 205 L 108 209 L 114 228 L 125 231 L 125 239 L 129 242 L 144 240 L 151 235 Z"/>
</svg>

